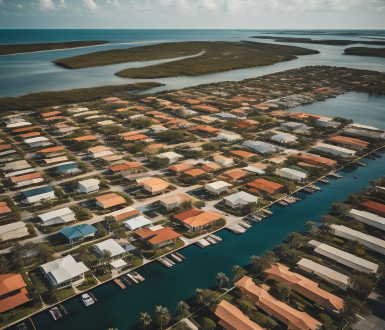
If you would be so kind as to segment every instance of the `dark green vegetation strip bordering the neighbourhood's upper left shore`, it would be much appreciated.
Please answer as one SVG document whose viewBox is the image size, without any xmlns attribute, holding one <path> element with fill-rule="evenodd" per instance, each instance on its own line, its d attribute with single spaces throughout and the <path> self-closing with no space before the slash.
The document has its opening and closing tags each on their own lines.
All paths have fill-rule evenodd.
<svg viewBox="0 0 385 330">
<path fill-rule="evenodd" d="M 74 102 L 86 102 L 110 96 L 126 96 L 126 91 L 147 89 L 164 84 L 148 81 L 124 85 L 106 85 L 90 88 L 76 88 L 59 91 L 41 91 L 18 97 L 1 97 L 0 109 L 6 111 L 34 110 L 40 107 L 62 105 Z"/>
</svg>

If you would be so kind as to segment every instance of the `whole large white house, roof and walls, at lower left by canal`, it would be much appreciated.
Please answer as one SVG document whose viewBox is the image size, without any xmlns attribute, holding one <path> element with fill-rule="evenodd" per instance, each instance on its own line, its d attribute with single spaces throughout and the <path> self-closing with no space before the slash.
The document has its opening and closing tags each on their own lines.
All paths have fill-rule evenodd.
<svg viewBox="0 0 385 330">
<path fill-rule="evenodd" d="M 83 262 L 76 262 L 71 254 L 44 263 L 40 266 L 44 276 L 54 288 L 63 288 L 84 281 L 84 272 L 89 269 Z"/>
</svg>

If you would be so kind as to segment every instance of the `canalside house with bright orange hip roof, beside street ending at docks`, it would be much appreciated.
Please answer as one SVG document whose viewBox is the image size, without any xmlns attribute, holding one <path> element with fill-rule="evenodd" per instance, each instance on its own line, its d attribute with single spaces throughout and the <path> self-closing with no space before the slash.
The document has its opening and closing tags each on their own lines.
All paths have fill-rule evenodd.
<svg viewBox="0 0 385 330">
<path fill-rule="evenodd" d="M 221 218 L 221 215 L 215 212 L 193 208 L 174 215 L 175 219 L 182 222 L 190 232 L 196 232 L 212 225 Z"/>
</svg>

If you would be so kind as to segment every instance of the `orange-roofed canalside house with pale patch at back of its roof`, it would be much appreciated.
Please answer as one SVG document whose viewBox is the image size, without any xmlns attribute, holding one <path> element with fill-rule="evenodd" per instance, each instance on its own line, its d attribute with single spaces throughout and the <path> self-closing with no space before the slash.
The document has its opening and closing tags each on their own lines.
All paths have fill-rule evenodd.
<svg viewBox="0 0 385 330">
<path fill-rule="evenodd" d="M 181 236 L 170 227 L 163 227 L 160 224 L 135 230 L 134 233 L 149 244 L 153 250 L 173 244 L 175 239 Z"/>
</svg>

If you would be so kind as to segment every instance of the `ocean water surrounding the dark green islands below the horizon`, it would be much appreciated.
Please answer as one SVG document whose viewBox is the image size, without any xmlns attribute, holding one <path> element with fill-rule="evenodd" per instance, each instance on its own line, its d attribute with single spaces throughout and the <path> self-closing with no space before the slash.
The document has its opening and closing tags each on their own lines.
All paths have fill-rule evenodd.
<svg viewBox="0 0 385 330">
<path fill-rule="evenodd" d="M 0 43 L 35 43 L 35 42 L 58 42 L 71 40 L 108 40 L 105 45 L 83 47 L 76 49 L 43 51 L 35 53 L 6 55 L 0 57 L 0 97 L 19 96 L 30 92 L 43 90 L 63 90 L 80 87 L 102 86 L 108 84 L 124 84 L 137 81 L 148 81 L 147 79 L 127 79 L 115 76 L 114 73 L 128 67 L 139 67 L 150 65 L 159 61 L 131 62 L 102 67 L 90 67 L 69 70 L 60 67 L 53 60 L 84 54 L 88 52 L 135 47 L 140 45 L 177 42 L 187 40 L 224 40 L 239 41 L 250 40 L 256 42 L 275 42 L 272 40 L 252 39 L 250 36 L 266 34 L 282 36 L 277 34 L 278 30 L 0 30 Z M 344 30 L 328 30 L 327 33 L 346 32 Z M 350 31 L 350 32 L 359 32 Z M 368 32 L 368 31 L 364 31 Z M 375 31 L 372 31 L 375 32 Z M 378 32 L 378 31 L 376 31 Z M 382 31 L 384 32 L 384 31 Z M 284 36 L 311 37 L 314 39 L 353 39 L 362 40 L 355 36 L 341 35 L 296 35 L 285 34 Z M 371 40 L 365 38 L 363 40 Z M 374 39 L 373 39 L 374 40 Z M 282 43 L 285 44 L 285 43 Z M 342 55 L 347 46 L 314 45 L 302 43 L 287 43 L 307 48 L 317 49 L 321 53 L 315 55 L 299 56 L 298 59 L 289 62 L 276 63 L 270 66 L 246 68 L 228 72 L 207 74 L 197 77 L 171 77 L 160 79 L 149 79 L 165 83 L 166 86 L 153 88 L 150 91 L 183 88 L 202 83 L 242 80 L 268 73 L 298 68 L 305 65 L 335 65 L 360 69 L 371 69 L 385 72 L 385 59 L 368 56 Z M 380 47 L 380 46 L 376 46 Z"/>
</svg>

